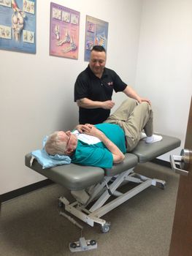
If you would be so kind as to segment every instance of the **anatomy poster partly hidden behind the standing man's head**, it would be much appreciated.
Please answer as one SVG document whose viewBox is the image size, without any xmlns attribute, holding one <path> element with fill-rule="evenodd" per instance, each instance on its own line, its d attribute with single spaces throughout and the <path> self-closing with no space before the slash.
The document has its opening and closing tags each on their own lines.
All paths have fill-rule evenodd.
<svg viewBox="0 0 192 256">
<path fill-rule="evenodd" d="M 102 45 L 107 51 L 108 26 L 104 20 L 86 16 L 85 26 L 85 61 L 89 61 L 94 45 Z"/>
</svg>

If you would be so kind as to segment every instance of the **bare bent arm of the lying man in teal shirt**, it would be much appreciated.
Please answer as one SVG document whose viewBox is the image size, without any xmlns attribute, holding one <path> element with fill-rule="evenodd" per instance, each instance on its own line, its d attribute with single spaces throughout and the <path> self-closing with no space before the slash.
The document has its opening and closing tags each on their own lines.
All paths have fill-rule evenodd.
<svg viewBox="0 0 192 256">
<path fill-rule="evenodd" d="M 103 132 L 101 132 L 96 127 L 92 127 L 90 132 L 85 132 L 85 134 L 95 136 L 99 138 L 99 140 L 104 143 L 104 145 L 107 147 L 107 149 L 112 153 L 113 163 L 118 164 L 119 162 L 122 162 L 125 158 L 124 154 L 120 151 L 120 149 L 112 143 L 111 140 L 109 140 Z"/>
</svg>

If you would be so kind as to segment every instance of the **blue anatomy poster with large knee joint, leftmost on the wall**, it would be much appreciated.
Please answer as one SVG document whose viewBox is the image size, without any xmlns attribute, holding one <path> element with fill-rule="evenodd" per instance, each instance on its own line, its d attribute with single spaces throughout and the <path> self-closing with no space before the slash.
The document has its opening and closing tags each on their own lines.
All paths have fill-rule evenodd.
<svg viewBox="0 0 192 256">
<path fill-rule="evenodd" d="M 36 0 L 0 0 L 0 49 L 36 53 Z"/>
</svg>

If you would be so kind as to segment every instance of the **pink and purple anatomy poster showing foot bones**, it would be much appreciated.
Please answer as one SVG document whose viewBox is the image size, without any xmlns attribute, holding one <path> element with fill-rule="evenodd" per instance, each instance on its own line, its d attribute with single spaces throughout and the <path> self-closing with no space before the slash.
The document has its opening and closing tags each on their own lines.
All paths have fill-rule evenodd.
<svg viewBox="0 0 192 256">
<path fill-rule="evenodd" d="M 50 4 L 50 55 L 78 59 L 80 12 Z"/>
</svg>

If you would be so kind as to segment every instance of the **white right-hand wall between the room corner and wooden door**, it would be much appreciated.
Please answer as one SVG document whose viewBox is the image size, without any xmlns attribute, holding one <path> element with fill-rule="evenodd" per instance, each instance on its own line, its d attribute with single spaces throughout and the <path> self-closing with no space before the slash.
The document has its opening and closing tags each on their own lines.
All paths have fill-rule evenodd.
<svg viewBox="0 0 192 256">
<path fill-rule="evenodd" d="M 155 130 L 182 140 L 172 154 L 184 146 L 191 102 L 191 14 L 191 0 L 143 1 L 136 88 L 153 103 Z"/>
</svg>

